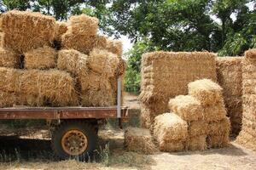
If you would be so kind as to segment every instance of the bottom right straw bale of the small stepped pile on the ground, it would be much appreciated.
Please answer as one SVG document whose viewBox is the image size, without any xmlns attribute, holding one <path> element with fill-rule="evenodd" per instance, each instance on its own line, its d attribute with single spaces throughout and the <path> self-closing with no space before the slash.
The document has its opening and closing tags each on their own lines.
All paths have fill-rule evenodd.
<svg viewBox="0 0 256 170">
<path fill-rule="evenodd" d="M 217 135 L 207 136 L 207 147 L 208 148 L 223 148 L 230 144 L 230 133 L 222 133 Z"/>
</svg>

